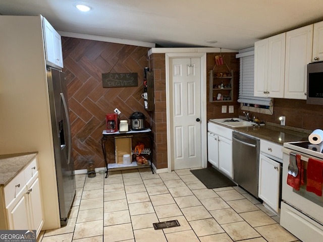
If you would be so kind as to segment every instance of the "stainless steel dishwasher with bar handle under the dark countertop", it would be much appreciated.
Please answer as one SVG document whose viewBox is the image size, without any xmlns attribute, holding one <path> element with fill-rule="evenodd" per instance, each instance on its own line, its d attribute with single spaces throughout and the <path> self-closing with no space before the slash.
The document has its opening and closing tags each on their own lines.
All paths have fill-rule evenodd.
<svg viewBox="0 0 323 242">
<path fill-rule="evenodd" d="M 260 140 L 232 133 L 233 180 L 258 198 Z"/>
</svg>

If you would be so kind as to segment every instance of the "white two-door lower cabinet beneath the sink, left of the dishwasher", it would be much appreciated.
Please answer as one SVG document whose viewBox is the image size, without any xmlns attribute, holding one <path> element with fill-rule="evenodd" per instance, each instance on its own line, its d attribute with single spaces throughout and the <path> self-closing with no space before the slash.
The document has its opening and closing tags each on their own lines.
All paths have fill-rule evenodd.
<svg viewBox="0 0 323 242">
<path fill-rule="evenodd" d="M 232 175 L 232 130 L 207 123 L 207 160 L 224 174 Z"/>
</svg>

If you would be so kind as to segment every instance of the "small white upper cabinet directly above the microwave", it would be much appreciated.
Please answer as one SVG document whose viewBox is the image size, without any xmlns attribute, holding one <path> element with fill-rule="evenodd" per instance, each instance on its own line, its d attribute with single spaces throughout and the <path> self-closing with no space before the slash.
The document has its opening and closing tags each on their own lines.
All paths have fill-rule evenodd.
<svg viewBox="0 0 323 242">
<path fill-rule="evenodd" d="M 314 24 L 312 62 L 323 61 L 323 21 Z"/>
</svg>

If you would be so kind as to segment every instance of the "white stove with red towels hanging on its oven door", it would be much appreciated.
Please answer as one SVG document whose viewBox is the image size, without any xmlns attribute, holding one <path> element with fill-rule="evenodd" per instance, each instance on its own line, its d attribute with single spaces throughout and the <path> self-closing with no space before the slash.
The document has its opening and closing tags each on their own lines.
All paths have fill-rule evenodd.
<svg viewBox="0 0 323 242">
<path fill-rule="evenodd" d="M 323 162 L 323 153 L 313 150 L 308 141 L 284 143 L 281 225 L 303 242 L 323 241 L 323 197 L 306 191 L 308 158 Z M 299 191 L 287 184 L 288 165 L 292 154 L 300 154 L 305 185 Z"/>
</svg>

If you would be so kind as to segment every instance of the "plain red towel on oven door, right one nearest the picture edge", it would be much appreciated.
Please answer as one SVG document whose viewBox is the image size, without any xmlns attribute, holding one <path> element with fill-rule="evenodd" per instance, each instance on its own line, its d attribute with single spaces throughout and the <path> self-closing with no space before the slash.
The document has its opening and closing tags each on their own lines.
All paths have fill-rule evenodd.
<svg viewBox="0 0 323 242">
<path fill-rule="evenodd" d="M 323 162 L 308 158 L 306 191 L 322 196 Z"/>
</svg>

